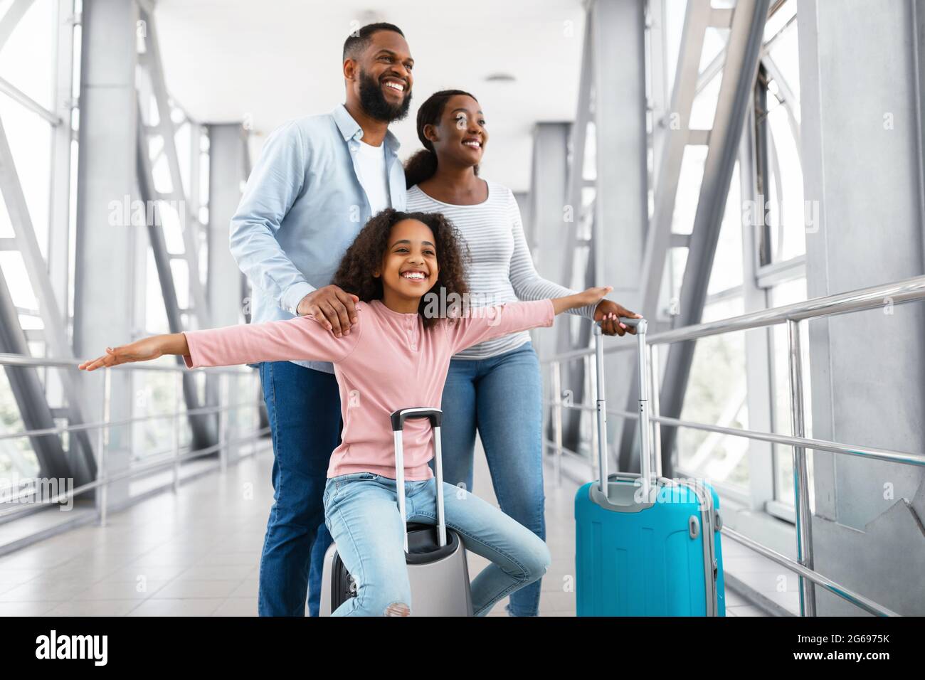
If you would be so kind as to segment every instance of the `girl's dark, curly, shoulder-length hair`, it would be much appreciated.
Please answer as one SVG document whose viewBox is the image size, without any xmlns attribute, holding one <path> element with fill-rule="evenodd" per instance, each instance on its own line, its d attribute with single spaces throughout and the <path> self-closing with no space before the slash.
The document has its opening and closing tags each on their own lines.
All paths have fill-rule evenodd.
<svg viewBox="0 0 925 680">
<path fill-rule="evenodd" d="M 382 276 L 374 277 L 373 272 L 382 266 L 392 227 L 403 219 L 424 222 L 434 232 L 439 267 L 437 283 L 421 296 L 417 310 L 423 317 L 424 327 L 431 328 L 437 324 L 438 316 L 424 313 L 427 301 L 431 299 L 427 293 L 437 295 L 438 300 L 441 296 L 443 300 L 452 300 L 452 293 L 457 293 L 460 299 L 464 299 L 463 295 L 469 290 L 465 281 L 465 271 L 472 258 L 460 232 L 440 213 L 403 213 L 386 208 L 372 216 L 340 260 L 338 271 L 331 283 L 353 293 L 364 303 L 382 300 Z M 441 288 L 445 291 L 441 291 Z"/>
</svg>

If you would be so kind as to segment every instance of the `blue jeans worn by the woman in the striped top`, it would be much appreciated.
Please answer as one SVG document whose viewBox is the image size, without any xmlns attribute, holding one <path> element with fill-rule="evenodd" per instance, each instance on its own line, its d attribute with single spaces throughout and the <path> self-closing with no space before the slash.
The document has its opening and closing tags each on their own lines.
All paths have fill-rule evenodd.
<svg viewBox="0 0 925 680">
<path fill-rule="evenodd" d="M 443 481 L 473 490 L 477 428 L 501 510 L 545 541 L 542 400 L 543 380 L 531 342 L 488 359 L 452 359 L 441 429 Z M 537 580 L 512 593 L 508 613 L 536 616 L 539 592 Z"/>
</svg>

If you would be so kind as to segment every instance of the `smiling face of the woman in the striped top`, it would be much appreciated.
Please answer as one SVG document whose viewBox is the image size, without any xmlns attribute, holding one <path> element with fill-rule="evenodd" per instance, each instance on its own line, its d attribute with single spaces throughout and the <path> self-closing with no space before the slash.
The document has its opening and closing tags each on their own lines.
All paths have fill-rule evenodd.
<svg viewBox="0 0 925 680">
<path fill-rule="evenodd" d="M 434 145 L 438 162 L 476 166 L 488 140 L 485 116 L 478 102 L 465 94 L 447 100 L 438 125 L 425 125 L 425 137 Z"/>
</svg>

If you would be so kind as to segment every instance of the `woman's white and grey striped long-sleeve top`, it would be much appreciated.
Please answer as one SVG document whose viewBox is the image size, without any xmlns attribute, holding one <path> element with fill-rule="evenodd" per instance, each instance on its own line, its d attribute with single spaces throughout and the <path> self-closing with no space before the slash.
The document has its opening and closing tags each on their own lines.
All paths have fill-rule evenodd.
<svg viewBox="0 0 925 680">
<path fill-rule="evenodd" d="M 561 298 L 580 292 L 539 276 L 513 192 L 490 179 L 486 182 L 488 198 L 475 205 L 443 203 L 417 185 L 408 190 L 407 197 L 408 212 L 443 213 L 460 230 L 472 254 L 472 264 L 466 272 L 472 306 Z M 597 304 L 589 304 L 569 313 L 593 319 L 596 307 Z M 453 358 L 487 359 L 510 352 L 528 340 L 530 333 L 519 331 L 480 342 Z"/>
</svg>

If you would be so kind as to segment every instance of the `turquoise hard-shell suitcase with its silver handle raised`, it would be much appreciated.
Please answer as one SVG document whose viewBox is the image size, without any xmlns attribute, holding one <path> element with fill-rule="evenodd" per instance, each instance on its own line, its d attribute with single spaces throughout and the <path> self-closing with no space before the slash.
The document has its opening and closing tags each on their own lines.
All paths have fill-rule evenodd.
<svg viewBox="0 0 925 680">
<path fill-rule="evenodd" d="M 627 322 L 626 319 L 623 320 Z M 579 616 L 725 616 L 720 499 L 703 480 L 652 476 L 648 445 L 646 324 L 639 322 L 642 473 L 607 475 L 600 328 L 598 457 L 607 476 L 578 489 L 574 501 L 575 600 Z M 648 483 L 647 483 L 648 482 Z"/>
</svg>

